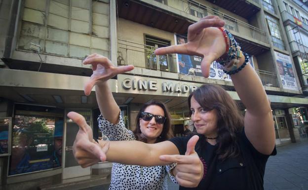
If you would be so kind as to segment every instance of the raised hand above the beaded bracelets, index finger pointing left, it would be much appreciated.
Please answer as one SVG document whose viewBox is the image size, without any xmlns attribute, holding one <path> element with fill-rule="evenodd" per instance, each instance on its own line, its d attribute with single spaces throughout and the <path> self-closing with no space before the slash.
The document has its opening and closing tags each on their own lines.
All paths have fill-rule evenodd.
<svg viewBox="0 0 308 190">
<path fill-rule="evenodd" d="M 226 51 L 225 37 L 220 29 L 225 21 L 218 16 L 206 16 L 188 27 L 188 42 L 180 45 L 161 47 L 155 50 L 156 55 L 179 53 L 203 57 L 202 75 L 209 76 L 210 65 Z"/>
</svg>

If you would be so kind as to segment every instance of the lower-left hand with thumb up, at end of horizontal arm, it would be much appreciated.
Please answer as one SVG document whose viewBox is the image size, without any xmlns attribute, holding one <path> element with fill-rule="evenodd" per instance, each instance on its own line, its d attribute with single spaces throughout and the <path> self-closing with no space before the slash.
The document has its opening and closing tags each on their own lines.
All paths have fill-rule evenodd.
<svg viewBox="0 0 308 190">
<path fill-rule="evenodd" d="M 73 153 L 78 164 L 85 168 L 99 161 L 106 161 L 109 143 L 100 141 L 98 144 L 93 140 L 92 129 L 82 115 L 70 112 L 67 116 L 79 126 L 73 145 Z"/>
</svg>

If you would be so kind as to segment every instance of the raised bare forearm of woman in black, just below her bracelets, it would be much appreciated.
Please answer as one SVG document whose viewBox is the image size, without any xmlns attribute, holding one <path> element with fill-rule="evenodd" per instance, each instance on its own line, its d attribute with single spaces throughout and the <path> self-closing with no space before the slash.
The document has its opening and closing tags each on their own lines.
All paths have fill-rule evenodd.
<svg viewBox="0 0 308 190">
<path fill-rule="evenodd" d="M 238 66 L 244 61 L 245 58 L 242 56 Z M 268 97 L 261 79 L 249 63 L 241 71 L 231 75 L 231 79 L 239 98 L 251 114 L 262 115 L 270 112 Z"/>
</svg>

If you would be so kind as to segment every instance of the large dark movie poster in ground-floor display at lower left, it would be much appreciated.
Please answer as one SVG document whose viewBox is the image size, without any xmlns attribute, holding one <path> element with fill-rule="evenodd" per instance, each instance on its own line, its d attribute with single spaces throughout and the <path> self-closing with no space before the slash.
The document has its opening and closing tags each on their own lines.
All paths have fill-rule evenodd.
<svg viewBox="0 0 308 190">
<path fill-rule="evenodd" d="M 15 115 L 8 175 L 61 166 L 63 119 Z"/>
</svg>

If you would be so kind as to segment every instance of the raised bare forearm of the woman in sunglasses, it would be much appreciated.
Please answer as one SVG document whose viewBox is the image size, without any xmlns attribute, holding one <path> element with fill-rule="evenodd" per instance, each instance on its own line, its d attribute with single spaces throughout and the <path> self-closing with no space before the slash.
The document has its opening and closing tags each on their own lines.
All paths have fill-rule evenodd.
<svg viewBox="0 0 308 190">
<path fill-rule="evenodd" d="M 108 81 L 95 85 L 96 100 L 104 118 L 116 124 L 119 119 L 120 109 L 109 88 Z"/>
</svg>

